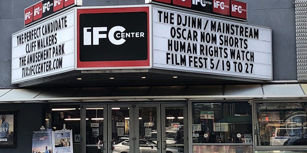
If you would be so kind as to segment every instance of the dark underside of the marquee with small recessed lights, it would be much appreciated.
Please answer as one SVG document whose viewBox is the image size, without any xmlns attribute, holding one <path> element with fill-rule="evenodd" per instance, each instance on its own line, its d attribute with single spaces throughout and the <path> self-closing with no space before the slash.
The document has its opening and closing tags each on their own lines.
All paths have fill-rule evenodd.
<svg viewBox="0 0 307 153">
<path fill-rule="evenodd" d="M 196 73 L 183 73 L 168 70 L 148 70 L 148 72 L 88 73 L 74 71 L 45 78 L 43 83 L 31 81 L 20 84 L 23 88 L 75 88 L 75 87 L 123 87 L 123 86 L 178 86 L 178 85 L 222 85 L 259 84 L 242 79 L 210 76 Z M 85 73 L 84 73 L 85 72 Z M 141 78 L 145 76 L 146 78 Z M 173 78 L 177 76 L 177 78 Z M 114 79 L 110 79 L 113 77 Z M 81 78 L 81 80 L 77 80 Z M 50 81 L 49 81 L 50 80 Z"/>
</svg>

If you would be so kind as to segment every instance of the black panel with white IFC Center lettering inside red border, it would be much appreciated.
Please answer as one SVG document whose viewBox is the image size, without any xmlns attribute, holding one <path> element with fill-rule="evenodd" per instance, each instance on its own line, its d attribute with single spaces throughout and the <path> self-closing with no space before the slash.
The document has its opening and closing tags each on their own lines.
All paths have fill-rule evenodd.
<svg viewBox="0 0 307 153">
<path fill-rule="evenodd" d="M 80 61 L 146 60 L 147 12 L 80 14 Z"/>
</svg>

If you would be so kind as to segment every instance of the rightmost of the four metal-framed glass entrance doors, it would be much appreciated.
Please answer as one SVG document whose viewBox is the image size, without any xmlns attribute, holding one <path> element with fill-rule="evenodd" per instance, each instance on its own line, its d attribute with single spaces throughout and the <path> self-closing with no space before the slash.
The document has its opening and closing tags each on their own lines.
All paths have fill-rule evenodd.
<svg viewBox="0 0 307 153">
<path fill-rule="evenodd" d="M 162 152 L 188 152 L 186 104 L 162 105 Z"/>
</svg>

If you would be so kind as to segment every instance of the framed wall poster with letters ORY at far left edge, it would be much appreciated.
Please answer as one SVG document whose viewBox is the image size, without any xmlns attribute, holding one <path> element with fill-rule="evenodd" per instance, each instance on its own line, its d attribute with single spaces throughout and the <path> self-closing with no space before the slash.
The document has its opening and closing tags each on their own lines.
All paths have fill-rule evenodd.
<svg viewBox="0 0 307 153">
<path fill-rule="evenodd" d="M 1 113 L 1 112 L 0 112 Z M 0 145 L 14 144 L 14 114 L 1 113 Z"/>
</svg>

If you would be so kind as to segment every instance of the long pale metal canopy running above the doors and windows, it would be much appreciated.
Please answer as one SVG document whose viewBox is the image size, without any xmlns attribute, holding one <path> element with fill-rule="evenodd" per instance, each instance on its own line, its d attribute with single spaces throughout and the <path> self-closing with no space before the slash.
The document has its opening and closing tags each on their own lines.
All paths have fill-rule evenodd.
<svg viewBox="0 0 307 153">
<path fill-rule="evenodd" d="M 306 89 L 307 84 L 0 89 L 0 103 L 297 99 L 307 98 Z"/>
</svg>

